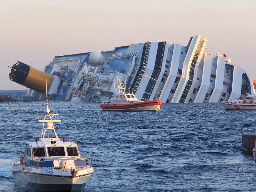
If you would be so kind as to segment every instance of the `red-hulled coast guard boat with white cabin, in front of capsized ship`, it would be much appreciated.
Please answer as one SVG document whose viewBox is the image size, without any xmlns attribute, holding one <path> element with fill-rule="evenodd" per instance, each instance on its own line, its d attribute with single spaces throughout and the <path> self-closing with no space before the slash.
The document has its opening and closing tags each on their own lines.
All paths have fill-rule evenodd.
<svg viewBox="0 0 256 192">
<path fill-rule="evenodd" d="M 109 102 L 100 103 L 100 108 L 114 111 L 160 111 L 163 101 L 140 101 L 134 94 L 125 93 L 125 86 L 121 80 L 117 76 L 116 93 L 112 95 Z"/>
</svg>

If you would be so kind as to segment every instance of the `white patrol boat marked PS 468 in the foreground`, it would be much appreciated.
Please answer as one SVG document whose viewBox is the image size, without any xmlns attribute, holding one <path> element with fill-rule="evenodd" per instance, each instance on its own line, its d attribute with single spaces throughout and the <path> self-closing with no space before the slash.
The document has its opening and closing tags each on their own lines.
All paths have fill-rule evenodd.
<svg viewBox="0 0 256 192">
<path fill-rule="evenodd" d="M 47 99 L 46 106 L 47 114 L 39 120 L 41 138 L 29 140 L 24 156 L 12 166 L 14 183 L 32 191 L 84 191 L 94 172 L 92 158 L 81 155 L 75 142 L 59 139 L 53 123 L 60 120 L 52 119 L 58 114 L 49 114 Z"/>
</svg>

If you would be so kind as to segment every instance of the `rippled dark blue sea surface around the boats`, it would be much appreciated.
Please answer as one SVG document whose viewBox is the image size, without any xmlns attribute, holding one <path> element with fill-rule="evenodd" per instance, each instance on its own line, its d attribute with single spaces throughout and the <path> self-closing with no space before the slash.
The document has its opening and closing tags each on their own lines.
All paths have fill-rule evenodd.
<svg viewBox="0 0 256 192">
<path fill-rule="evenodd" d="M 0 103 L 0 191 L 22 192 L 10 169 L 25 143 L 40 137 L 46 102 L 26 90 L 0 90 L 21 102 Z M 242 147 L 255 133 L 256 111 L 225 111 L 218 104 L 163 104 L 160 112 L 103 111 L 100 103 L 49 101 L 60 138 L 93 158 L 84 191 L 256 191 L 256 164 Z"/>
</svg>

